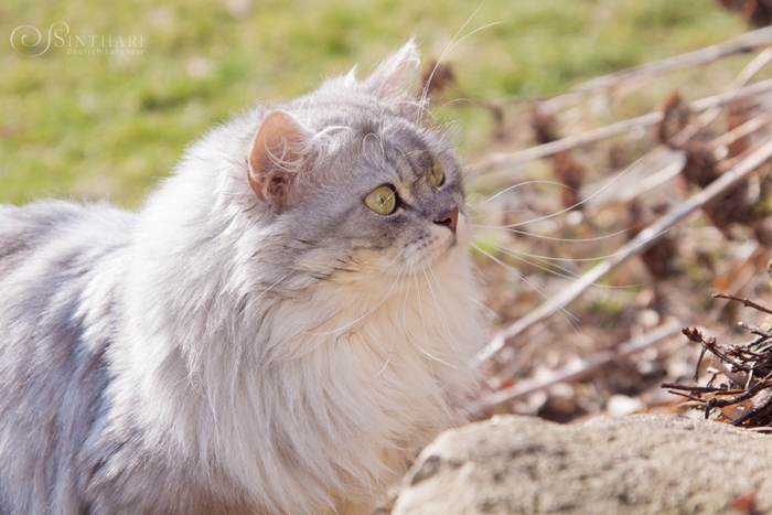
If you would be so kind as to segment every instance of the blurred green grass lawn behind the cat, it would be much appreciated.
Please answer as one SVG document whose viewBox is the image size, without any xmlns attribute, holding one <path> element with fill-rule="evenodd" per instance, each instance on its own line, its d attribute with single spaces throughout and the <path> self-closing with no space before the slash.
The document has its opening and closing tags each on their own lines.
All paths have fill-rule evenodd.
<svg viewBox="0 0 772 515">
<path fill-rule="evenodd" d="M 245 0 L 246 1 L 246 0 Z M 410 35 L 438 57 L 479 7 L 397 0 L 236 0 L 0 4 L 0 202 L 109 199 L 136 206 L 211 125 L 255 101 L 313 89 L 355 63 L 368 69 Z M 39 57 L 9 42 L 19 25 L 63 21 L 72 35 L 142 36 L 140 55 Z M 709 0 L 489 0 L 448 56 L 472 98 L 543 95 L 716 43 L 744 30 Z M 47 39 L 47 34 L 44 34 Z M 464 152 L 490 140 L 487 114 L 446 108 Z"/>
</svg>

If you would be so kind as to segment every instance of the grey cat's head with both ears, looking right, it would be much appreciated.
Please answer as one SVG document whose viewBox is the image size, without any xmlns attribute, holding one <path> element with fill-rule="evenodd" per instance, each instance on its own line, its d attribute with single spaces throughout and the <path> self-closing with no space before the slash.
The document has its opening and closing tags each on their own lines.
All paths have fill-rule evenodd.
<svg viewBox="0 0 772 515">
<path fill-rule="evenodd" d="M 412 42 L 260 114 L 247 181 L 261 218 L 320 277 L 420 271 L 469 244 L 462 170 L 425 112 Z"/>
</svg>

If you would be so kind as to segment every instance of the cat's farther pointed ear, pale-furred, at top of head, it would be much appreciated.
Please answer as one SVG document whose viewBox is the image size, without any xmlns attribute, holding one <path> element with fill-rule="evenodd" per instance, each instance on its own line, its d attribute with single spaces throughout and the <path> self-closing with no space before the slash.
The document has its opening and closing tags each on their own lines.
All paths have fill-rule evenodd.
<svg viewBox="0 0 772 515">
<path fill-rule="evenodd" d="M 364 83 L 382 98 L 404 96 L 406 92 L 412 90 L 420 66 L 420 54 L 411 39 L 380 63 Z"/>
</svg>

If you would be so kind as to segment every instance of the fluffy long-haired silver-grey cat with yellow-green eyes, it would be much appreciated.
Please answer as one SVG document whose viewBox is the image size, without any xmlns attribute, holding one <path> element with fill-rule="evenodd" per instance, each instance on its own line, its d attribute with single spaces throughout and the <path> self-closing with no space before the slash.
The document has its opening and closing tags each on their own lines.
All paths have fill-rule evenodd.
<svg viewBox="0 0 772 515">
<path fill-rule="evenodd" d="M 138 213 L 0 206 L 0 513 L 366 514 L 463 421 L 470 228 L 417 71 L 214 129 Z"/>
</svg>

